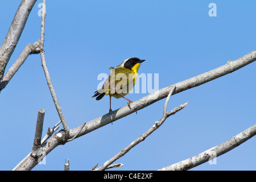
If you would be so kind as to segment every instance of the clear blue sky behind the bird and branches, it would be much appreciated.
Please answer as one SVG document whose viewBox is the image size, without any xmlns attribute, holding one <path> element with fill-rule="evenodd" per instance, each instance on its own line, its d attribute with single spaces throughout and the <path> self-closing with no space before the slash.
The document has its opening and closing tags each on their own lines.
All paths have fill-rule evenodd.
<svg viewBox="0 0 256 182">
<path fill-rule="evenodd" d="M 209 3 L 217 16 L 210 17 Z M 0 42 L 20 1 L 0 2 Z M 28 43 L 40 38 L 36 2 L 6 71 Z M 255 1 L 47 1 L 44 48 L 55 92 L 69 128 L 109 111 L 109 97 L 92 98 L 100 73 L 128 57 L 146 61 L 139 73 L 158 73 L 159 88 L 236 60 L 256 47 Z M 156 170 L 217 146 L 255 124 L 256 63 L 171 97 L 168 110 L 189 102 L 115 163 L 117 170 Z M 128 94 L 132 101 L 148 93 Z M 165 100 L 59 146 L 33 170 L 90 170 L 148 130 Z M 41 66 L 30 55 L 0 94 L 1 170 L 11 170 L 32 148 L 36 117 L 45 109 L 43 135 L 59 121 Z M 127 101 L 112 100 L 112 109 Z M 256 138 L 192 170 L 256 170 Z"/>
</svg>

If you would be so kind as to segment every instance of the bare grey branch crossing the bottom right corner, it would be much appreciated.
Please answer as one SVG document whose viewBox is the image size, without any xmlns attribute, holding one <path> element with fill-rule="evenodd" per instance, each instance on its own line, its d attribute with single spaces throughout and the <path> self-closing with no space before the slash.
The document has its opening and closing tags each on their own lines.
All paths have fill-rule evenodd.
<svg viewBox="0 0 256 182">
<path fill-rule="evenodd" d="M 192 158 L 182 160 L 179 163 L 159 169 L 159 171 L 183 171 L 199 166 L 210 159 L 216 158 L 217 156 L 225 154 L 233 148 L 236 148 L 251 137 L 254 137 L 254 135 L 256 135 L 256 124 L 216 147 L 210 148 L 209 150 L 193 156 Z"/>
</svg>

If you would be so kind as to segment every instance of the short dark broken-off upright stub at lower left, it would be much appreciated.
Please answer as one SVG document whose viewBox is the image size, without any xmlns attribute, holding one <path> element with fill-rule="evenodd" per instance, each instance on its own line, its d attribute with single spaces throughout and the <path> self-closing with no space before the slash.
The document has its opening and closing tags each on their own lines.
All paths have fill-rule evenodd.
<svg viewBox="0 0 256 182">
<path fill-rule="evenodd" d="M 33 146 L 40 146 L 41 144 L 45 112 L 46 111 L 44 109 L 38 111 L 38 119 L 36 121 L 36 130 L 35 130 L 35 138 L 34 138 Z"/>
</svg>

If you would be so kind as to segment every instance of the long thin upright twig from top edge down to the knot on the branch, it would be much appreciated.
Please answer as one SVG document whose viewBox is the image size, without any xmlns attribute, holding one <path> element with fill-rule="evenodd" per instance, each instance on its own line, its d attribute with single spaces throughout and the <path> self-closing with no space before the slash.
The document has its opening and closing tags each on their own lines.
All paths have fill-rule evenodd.
<svg viewBox="0 0 256 182">
<path fill-rule="evenodd" d="M 46 21 L 46 0 L 43 0 L 41 17 L 42 17 L 42 22 L 41 22 L 41 38 L 40 38 L 40 55 L 41 55 L 41 60 L 42 60 L 42 67 L 44 69 L 44 75 L 46 75 L 47 84 L 48 84 L 49 90 L 51 92 L 53 102 L 55 104 L 57 113 L 59 114 L 61 123 L 63 125 L 63 129 L 64 129 L 64 133 L 65 133 L 64 140 L 65 140 L 65 139 L 69 138 L 69 129 L 68 129 L 67 122 L 65 121 L 65 117 L 61 111 L 59 101 L 57 100 L 57 96 L 53 89 L 52 81 L 51 81 L 51 78 L 49 76 L 49 72 L 48 72 L 48 69 L 46 66 L 46 57 L 44 55 L 44 26 L 45 26 L 45 21 Z"/>
</svg>

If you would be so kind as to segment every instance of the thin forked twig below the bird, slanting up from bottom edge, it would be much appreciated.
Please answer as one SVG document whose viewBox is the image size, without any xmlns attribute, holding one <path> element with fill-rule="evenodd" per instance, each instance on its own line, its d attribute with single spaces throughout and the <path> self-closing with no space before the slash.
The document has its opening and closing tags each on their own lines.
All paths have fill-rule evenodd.
<svg viewBox="0 0 256 182">
<path fill-rule="evenodd" d="M 133 142 L 131 142 L 129 144 L 129 146 L 123 148 L 123 150 L 121 150 L 120 152 L 118 152 L 116 155 L 114 155 L 111 159 L 109 159 L 107 162 L 105 162 L 101 167 L 95 169 L 96 171 L 104 171 L 106 168 L 108 168 L 108 166 L 110 166 L 110 164 L 112 164 L 113 162 L 115 162 L 115 160 L 121 158 L 122 156 L 124 156 L 127 152 L 129 152 L 131 150 L 131 148 L 135 147 L 137 144 L 141 143 L 144 139 L 146 139 L 151 133 L 153 133 L 156 129 L 158 129 L 164 121 L 166 121 L 166 119 L 170 116 L 170 115 L 173 115 L 175 114 L 177 111 L 180 111 L 181 109 L 183 109 L 187 104 L 183 104 L 183 105 L 180 105 L 179 107 L 176 107 L 174 110 L 166 113 L 166 108 L 167 108 L 167 104 L 170 100 L 170 97 L 172 95 L 172 93 L 174 92 L 176 86 L 174 85 L 172 88 L 171 88 L 171 91 L 170 93 L 168 94 L 168 97 L 166 99 L 166 103 L 164 104 L 164 114 L 163 114 L 163 117 L 160 119 L 160 121 L 158 122 L 155 122 L 154 125 L 149 129 L 147 130 L 143 135 L 141 135 L 141 137 L 137 138 L 136 140 L 134 140 Z"/>
</svg>

